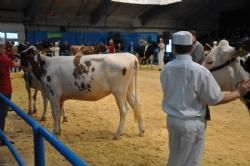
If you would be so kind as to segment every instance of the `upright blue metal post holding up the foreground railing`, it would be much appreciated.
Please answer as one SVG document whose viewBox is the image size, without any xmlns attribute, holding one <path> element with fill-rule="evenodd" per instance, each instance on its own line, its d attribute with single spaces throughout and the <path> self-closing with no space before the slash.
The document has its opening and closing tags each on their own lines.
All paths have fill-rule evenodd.
<svg viewBox="0 0 250 166">
<path fill-rule="evenodd" d="M 43 137 L 41 137 L 38 130 L 39 128 L 33 129 L 35 166 L 45 166 L 44 140 L 43 140 Z"/>
</svg>

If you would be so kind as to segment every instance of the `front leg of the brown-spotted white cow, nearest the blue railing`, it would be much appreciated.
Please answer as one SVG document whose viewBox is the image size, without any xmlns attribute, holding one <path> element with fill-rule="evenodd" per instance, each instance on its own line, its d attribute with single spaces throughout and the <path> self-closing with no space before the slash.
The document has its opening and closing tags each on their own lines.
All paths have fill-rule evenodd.
<svg viewBox="0 0 250 166">
<path fill-rule="evenodd" d="M 55 97 L 53 97 L 50 100 L 51 104 L 51 110 L 52 110 L 52 117 L 54 120 L 54 128 L 52 129 L 53 134 L 60 134 L 60 117 L 61 117 L 61 112 L 60 112 L 60 104 L 59 100 L 57 100 Z"/>
</svg>

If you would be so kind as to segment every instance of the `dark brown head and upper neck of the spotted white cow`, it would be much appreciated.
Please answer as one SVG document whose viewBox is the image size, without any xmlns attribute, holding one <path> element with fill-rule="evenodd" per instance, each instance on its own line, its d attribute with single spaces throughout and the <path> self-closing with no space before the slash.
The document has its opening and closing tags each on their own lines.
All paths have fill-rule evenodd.
<svg viewBox="0 0 250 166">
<path fill-rule="evenodd" d="M 31 46 L 20 46 L 21 64 L 24 68 L 31 67 L 31 71 L 38 80 L 46 74 L 45 61 L 41 59 L 39 52 L 36 47 Z"/>
</svg>

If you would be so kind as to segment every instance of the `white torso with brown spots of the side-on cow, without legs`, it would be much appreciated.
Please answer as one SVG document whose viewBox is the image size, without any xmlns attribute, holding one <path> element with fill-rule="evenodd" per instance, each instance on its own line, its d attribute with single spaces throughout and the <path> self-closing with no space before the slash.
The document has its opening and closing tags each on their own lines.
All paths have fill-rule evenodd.
<svg viewBox="0 0 250 166">
<path fill-rule="evenodd" d="M 44 77 L 50 95 L 99 100 L 128 87 L 137 59 L 129 53 L 55 57 Z"/>
</svg>

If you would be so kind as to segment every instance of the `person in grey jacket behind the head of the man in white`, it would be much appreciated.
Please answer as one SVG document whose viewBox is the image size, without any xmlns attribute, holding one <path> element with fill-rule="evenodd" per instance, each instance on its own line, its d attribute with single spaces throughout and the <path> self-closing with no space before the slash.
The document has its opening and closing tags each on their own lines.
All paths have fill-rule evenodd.
<svg viewBox="0 0 250 166">
<path fill-rule="evenodd" d="M 202 44 L 197 40 L 197 33 L 196 31 L 190 31 L 193 35 L 193 48 L 191 51 L 191 56 L 194 62 L 202 64 L 205 55 L 204 55 L 204 47 Z"/>
</svg>

